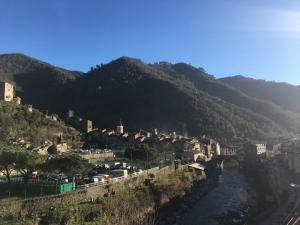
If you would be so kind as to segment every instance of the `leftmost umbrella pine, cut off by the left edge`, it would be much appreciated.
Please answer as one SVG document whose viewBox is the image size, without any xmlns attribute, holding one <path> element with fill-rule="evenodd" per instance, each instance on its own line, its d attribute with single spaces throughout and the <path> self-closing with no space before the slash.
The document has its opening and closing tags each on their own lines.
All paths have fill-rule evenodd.
<svg viewBox="0 0 300 225">
<path fill-rule="evenodd" d="M 16 162 L 16 153 L 10 151 L 0 152 L 0 171 L 6 176 L 10 183 L 10 175 L 14 170 Z"/>
</svg>

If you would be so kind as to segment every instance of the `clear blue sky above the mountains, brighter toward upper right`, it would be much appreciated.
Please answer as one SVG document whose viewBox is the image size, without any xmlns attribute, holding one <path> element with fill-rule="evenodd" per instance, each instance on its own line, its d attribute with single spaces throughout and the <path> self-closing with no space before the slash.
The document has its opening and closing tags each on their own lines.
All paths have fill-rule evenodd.
<svg viewBox="0 0 300 225">
<path fill-rule="evenodd" d="M 87 71 L 127 55 L 300 84 L 298 0 L 1 0 L 0 54 Z"/>
</svg>

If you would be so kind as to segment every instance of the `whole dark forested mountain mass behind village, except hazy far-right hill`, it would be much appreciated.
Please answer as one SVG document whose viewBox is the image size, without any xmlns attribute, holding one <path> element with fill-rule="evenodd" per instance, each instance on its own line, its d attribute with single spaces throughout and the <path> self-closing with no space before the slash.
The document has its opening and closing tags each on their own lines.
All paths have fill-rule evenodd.
<svg viewBox="0 0 300 225">
<path fill-rule="evenodd" d="M 145 64 L 121 57 L 83 74 L 17 55 L 33 64 L 22 69 L 15 55 L 8 56 L 0 63 L 0 79 L 13 74 L 10 79 L 25 103 L 61 116 L 73 109 L 97 127 L 113 128 L 122 119 L 129 131 L 156 127 L 206 134 L 221 142 L 269 141 L 288 137 L 300 127 L 298 112 L 251 96 L 185 63 Z"/>
</svg>

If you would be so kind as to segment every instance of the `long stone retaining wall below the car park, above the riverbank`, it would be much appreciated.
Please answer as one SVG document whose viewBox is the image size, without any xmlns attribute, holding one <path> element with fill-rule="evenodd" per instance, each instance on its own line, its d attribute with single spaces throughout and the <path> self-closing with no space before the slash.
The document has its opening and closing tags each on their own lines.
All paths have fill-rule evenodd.
<svg viewBox="0 0 300 225">
<path fill-rule="evenodd" d="M 180 167 L 179 170 L 185 167 Z M 138 176 L 129 177 L 127 179 L 120 179 L 117 182 L 108 185 L 94 185 L 85 189 L 77 189 L 72 192 L 49 195 L 42 197 L 28 198 L 25 200 L 9 200 L 0 202 L 0 217 L 7 215 L 28 215 L 31 213 L 39 212 L 50 207 L 61 207 L 80 202 L 87 202 L 103 197 L 109 191 L 114 190 L 118 192 L 124 188 L 134 188 L 144 183 L 149 174 L 153 174 L 156 178 L 165 176 L 174 172 L 172 167 L 153 168 L 139 174 Z"/>
</svg>

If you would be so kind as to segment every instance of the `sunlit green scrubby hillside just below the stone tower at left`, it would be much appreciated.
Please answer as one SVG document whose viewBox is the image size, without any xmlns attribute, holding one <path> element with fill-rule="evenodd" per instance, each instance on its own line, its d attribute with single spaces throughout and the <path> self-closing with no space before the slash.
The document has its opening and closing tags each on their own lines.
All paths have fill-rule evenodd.
<svg viewBox="0 0 300 225">
<path fill-rule="evenodd" d="M 28 111 L 26 105 L 0 101 L 0 141 L 38 147 L 45 141 L 57 143 L 61 134 L 71 146 L 80 146 L 80 133 L 62 121 L 52 121 L 38 110 Z"/>
</svg>

